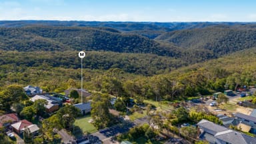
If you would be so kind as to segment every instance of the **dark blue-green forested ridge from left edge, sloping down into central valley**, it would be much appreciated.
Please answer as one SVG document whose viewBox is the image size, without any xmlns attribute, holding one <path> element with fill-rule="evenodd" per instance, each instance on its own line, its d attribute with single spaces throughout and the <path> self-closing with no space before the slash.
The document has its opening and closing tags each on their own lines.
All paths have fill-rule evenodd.
<svg viewBox="0 0 256 144">
<path fill-rule="evenodd" d="M 173 45 L 161 47 L 154 40 L 114 29 L 92 27 L 14 27 L 0 28 L 0 49 L 17 51 L 115 51 L 155 53 L 173 56 Z"/>
</svg>

